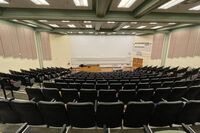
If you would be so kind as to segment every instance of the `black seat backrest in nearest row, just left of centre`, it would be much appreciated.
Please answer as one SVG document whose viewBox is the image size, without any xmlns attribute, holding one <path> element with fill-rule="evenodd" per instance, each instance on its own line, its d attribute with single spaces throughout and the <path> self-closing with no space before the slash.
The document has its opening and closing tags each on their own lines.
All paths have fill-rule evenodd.
<svg viewBox="0 0 200 133">
<path fill-rule="evenodd" d="M 89 128 L 95 126 L 93 103 L 68 103 L 67 111 L 69 123 L 72 127 Z"/>
</svg>

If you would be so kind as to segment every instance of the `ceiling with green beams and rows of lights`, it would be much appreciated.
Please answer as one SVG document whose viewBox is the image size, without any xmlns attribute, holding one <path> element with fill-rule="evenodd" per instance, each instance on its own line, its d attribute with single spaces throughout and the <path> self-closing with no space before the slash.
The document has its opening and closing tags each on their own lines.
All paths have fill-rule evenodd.
<svg viewBox="0 0 200 133">
<path fill-rule="evenodd" d="M 118 8 L 121 0 L 88 0 L 86 7 L 73 0 L 46 0 L 49 5 L 5 1 L 9 4 L 0 4 L 0 19 L 59 34 L 146 35 L 200 24 L 200 10 L 188 10 L 200 0 L 185 0 L 169 9 L 158 7 L 170 0 L 136 0 L 129 8 Z"/>
</svg>

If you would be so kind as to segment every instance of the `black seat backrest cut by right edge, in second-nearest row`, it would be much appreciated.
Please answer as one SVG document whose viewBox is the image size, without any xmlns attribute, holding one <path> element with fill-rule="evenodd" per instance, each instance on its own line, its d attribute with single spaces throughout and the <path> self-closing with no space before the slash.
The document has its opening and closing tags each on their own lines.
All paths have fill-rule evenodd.
<svg viewBox="0 0 200 133">
<path fill-rule="evenodd" d="M 187 93 L 185 93 L 184 98 L 188 100 L 200 100 L 200 85 L 190 86 Z"/>
</svg>

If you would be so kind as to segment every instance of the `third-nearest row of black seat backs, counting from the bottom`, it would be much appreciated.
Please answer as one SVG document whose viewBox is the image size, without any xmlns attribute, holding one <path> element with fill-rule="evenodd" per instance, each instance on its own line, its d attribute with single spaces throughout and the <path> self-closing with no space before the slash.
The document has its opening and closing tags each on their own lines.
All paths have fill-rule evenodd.
<svg viewBox="0 0 200 133">
<path fill-rule="evenodd" d="M 44 82 L 43 86 L 46 88 L 71 88 L 71 89 L 148 89 L 148 88 L 160 88 L 160 87 L 180 87 L 180 86 L 191 86 L 191 85 L 200 85 L 200 80 L 188 80 L 188 81 L 166 81 L 166 82 L 143 82 L 143 83 L 52 83 Z"/>
</svg>

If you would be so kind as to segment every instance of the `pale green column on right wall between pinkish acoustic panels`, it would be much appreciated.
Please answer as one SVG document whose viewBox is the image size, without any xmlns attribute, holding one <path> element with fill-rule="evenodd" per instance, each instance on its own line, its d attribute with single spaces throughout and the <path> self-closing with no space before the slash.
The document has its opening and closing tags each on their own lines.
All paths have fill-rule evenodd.
<svg viewBox="0 0 200 133">
<path fill-rule="evenodd" d="M 168 48 L 169 48 L 169 40 L 170 40 L 170 34 L 169 32 L 165 32 L 162 54 L 161 54 L 161 66 L 165 66 L 165 63 L 166 63 L 167 53 L 168 53 Z"/>
</svg>

